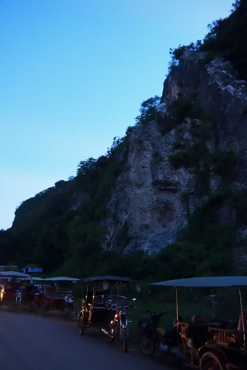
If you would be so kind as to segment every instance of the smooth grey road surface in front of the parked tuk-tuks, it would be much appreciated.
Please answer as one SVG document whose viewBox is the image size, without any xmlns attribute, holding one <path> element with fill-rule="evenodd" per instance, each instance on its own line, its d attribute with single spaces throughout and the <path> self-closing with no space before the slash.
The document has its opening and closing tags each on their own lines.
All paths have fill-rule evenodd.
<svg viewBox="0 0 247 370">
<path fill-rule="evenodd" d="M 170 370 L 164 359 L 149 358 L 130 343 L 124 353 L 120 339 L 113 344 L 96 328 L 80 336 L 77 322 L 58 311 L 47 316 L 0 310 L 1 370 Z M 174 368 L 173 368 L 174 370 Z"/>
</svg>

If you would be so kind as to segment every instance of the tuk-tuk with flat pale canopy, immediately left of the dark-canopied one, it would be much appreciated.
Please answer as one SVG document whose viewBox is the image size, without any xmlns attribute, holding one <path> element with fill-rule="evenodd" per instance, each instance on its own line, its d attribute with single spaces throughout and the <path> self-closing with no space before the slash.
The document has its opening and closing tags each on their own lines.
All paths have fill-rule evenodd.
<svg viewBox="0 0 247 370">
<path fill-rule="evenodd" d="M 47 278 L 43 281 L 43 286 L 40 286 L 40 307 L 43 315 L 46 315 L 50 310 L 59 310 L 65 317 L 76 321 L 77 312 L 72 291 L 61 288 L 61 282 L 77 283 L 80 279 L 68 277 Z M 46 285 L 45 283 L 54 283 L 55 285 Z"/>
</svg>

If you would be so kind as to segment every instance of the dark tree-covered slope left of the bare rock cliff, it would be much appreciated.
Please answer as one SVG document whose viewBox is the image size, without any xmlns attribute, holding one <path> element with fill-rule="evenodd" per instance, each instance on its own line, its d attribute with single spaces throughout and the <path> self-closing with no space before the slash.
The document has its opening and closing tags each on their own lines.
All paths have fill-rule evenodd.
<svg viewBox="0 0 247 370">
<path fill-rule="evenodd" d="M 10 231 L 0 234 L 3 262 L 10 256 L 20 267 L 40 264 L 46 273 L 74 276 L 103 265 L 101 225 L 116 178 L 126 170 L 128 140 L 114 138 L 106 156 L 89 158 L 78 165 L 77 176 L 58 181 L 16 210 Z M 10 253 L 11 251 L 11 253 Z"/>
</svg>

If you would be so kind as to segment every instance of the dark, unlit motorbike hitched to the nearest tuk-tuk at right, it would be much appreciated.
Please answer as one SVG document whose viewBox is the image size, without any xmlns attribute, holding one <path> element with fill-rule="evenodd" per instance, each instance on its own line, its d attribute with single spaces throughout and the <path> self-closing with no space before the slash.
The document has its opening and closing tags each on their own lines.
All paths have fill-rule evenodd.
<svg viewBox="0 0 247 370">
<path fill-rule="evenodd" d="M 145 312 L 150 313 L 148 310 Z M 148 320 L 138 320 L 138 327 L 141 329 L 138 339 L 139 349 L 149 356 L 152 356 L 156 351 L 160 351 L 184 358 L 185 355 L 178 345 L 180 336 L 177 331 L 177 320 L 174 320 L 171 327 L 159 327 L 159 320 L 163 315 L 164 312 L 155 311 L 151 313 Z M 181 320 L 180 317 L 179 320 Z"/>
</svg>

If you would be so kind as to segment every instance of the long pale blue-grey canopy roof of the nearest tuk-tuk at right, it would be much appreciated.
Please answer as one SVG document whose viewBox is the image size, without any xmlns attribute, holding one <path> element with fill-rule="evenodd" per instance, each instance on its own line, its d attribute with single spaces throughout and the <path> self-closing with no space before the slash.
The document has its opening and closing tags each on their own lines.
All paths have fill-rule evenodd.
<svg viewBox="0 0 247 370">
<path fill-rule="evenodd" d="M 150 285 L 167 287 L 242 287 L 247 286 L 247 276 L 214 276 L 206 278 L 188 278 L 161 281 Z"/>
</svg>

